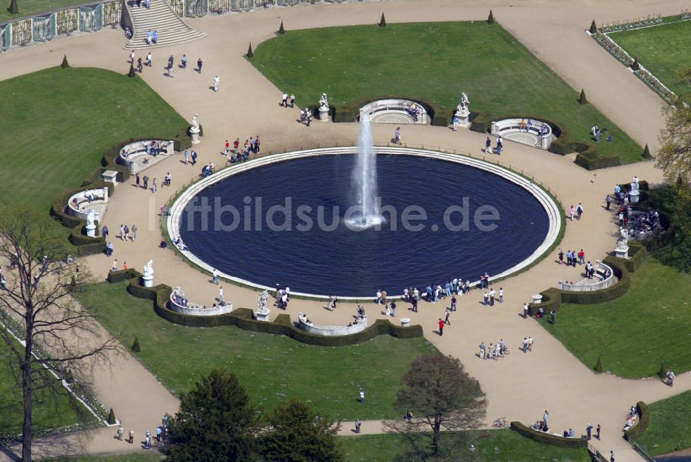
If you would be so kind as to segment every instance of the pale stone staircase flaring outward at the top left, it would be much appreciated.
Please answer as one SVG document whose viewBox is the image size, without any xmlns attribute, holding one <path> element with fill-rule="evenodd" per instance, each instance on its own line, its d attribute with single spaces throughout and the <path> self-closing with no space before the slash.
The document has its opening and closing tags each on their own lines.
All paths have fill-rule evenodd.
<svg viewBox="0 0 691 462">
<path fill-rule="evenodd" d="M 185 24 L 165 0 L 151 0 L 148 10 L 142 6 L 127 6 L 132 20 L 132 39 L 123 47 L 126 50 L 160 48 L 206 37 L 204 32 L 194 30 Z M 146 44 L 146 31 L 158 30 L 158 43 Z"/>
</svg>

